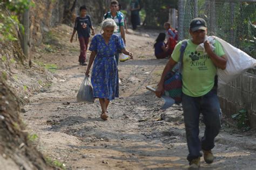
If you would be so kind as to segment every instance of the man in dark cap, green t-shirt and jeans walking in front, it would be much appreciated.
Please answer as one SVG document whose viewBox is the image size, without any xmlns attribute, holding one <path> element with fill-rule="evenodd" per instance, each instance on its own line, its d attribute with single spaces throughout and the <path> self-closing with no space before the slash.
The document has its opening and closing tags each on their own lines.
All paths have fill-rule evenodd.
<svg viewBox="0 0 256 170">
<path fill-rule="evenodd" d="M 200 166 L 200 150 L 203 150 L 204 160 L 207 164 L 213 162 L 212 148 L 214 138 L 220 130 L 220 104 L 217 96 L 217 84 L 214 77 L 217 67 L 226 68 L 226 59 L 223 47 L 216 40 L 212 50 L 209 41 L 205 41 L 207 25 L 203 18 L 194 18 L 190 23 L 191 39 L 187 40 L 187 46 L 183 56 L 183 96 L 182 105 L 184 111 L 184 122 L 189 154 L 187 160 L 192 168 Z M 204 43 L 206 54 L 197 51 L 199 44 Z M 166 64 L 161 75 L 156 95 L 164 94 L 164 77 L 179 61 L 181 42 L 179 42 L 172 53 L 172 57 Z M 204 137 L 200 140 L 199 115 L 203 114 L 205 123 Z"/>
</svg>

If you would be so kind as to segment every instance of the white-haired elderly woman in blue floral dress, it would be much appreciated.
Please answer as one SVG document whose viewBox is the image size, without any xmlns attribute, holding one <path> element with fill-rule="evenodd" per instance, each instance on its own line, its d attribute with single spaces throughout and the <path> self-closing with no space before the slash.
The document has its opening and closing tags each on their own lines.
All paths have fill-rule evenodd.
<svg viewBox="0 0 256 170">
<path fill-rule="evenodd" d="M 115 97 L 119 97 L 117 61 L 114 55 L 118 49 L 133 59 L 132 53 L 125 49 L 120 36 L 113 34 L 117 25 L 113 19 L 105 19 L 102 23 L 102 34 L 92 38 L 89 50 L 92 52 L 85 75 L 89 76 L 93 63 L 91 82 L 93 97 L 99 98 L 102 114 L 100 118 L 107 120 L 107 107 Z"/>
</svg>

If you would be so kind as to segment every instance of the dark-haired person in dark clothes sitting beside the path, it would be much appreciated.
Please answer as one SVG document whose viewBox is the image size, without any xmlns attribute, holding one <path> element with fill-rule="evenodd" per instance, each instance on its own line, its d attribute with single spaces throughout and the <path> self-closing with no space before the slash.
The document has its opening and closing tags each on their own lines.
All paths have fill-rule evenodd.
<svg viewBox="0 0 256 170">
<path fill-rule="evenodd" d="M 164 59 L 172 54 L 169 45 L 165 45 L 165 33 L 159 33 L 156 43 L 154 44 L 154 55 L 157 59 Z"/>
</svg>

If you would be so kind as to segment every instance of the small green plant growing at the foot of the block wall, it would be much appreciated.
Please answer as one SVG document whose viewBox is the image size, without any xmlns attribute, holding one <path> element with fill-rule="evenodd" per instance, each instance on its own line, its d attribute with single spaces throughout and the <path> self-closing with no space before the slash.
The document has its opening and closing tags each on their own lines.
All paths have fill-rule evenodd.
<svg viewBox="0 0 256 170">
<path fill-rule="evenodd" d="M 231 117 L 237 120 L 238 129 L 242 129 L 242 131 L 247 131 L 251 129 L 248 125 L 247 110 L 242 109 L 237 114 L 234 114 Z"/>
</svg>

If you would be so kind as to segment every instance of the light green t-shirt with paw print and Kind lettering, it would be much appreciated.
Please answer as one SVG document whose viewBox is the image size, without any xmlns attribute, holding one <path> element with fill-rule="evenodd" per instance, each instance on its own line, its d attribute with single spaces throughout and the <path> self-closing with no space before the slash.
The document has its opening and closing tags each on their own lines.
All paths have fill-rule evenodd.
<svg viewBox="0 0 256 170">
<path fill-rule="evenodd" d="M 179 61 L 181 41 L 176 45 L 172 53 L 172 59 Z M 183 56 L 182 70 L 182 91 L 184 94 L 192 97 L 199 97 L 207 94 L 214 86 L 214 76 L 217 67 L 214 65 L 210 56 L 197 52 L 197 44 L 187 40 L 187 47 Z M 214 53 L 223 56 L 224 50 L 220 42 L 214 43 Z"/>
</svg>

